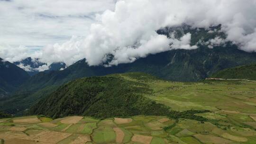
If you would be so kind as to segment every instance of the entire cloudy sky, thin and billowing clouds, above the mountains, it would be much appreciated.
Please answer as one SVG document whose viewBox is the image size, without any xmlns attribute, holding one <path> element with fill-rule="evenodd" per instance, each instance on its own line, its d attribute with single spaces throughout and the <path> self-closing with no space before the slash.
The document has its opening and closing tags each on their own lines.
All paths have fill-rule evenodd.
<svg viewBox="0 0 256 144">
<path fill-rule="evenodd" d="M 67 65 L 132 63 L 148 54 L 196 49 L 191 34 L 159 35 L 163 27 L 216 26 L 209 48 L 232 42 L 256 52 L 256 0 L 0 0 L 0 57 L 27 56 Z M 111 60 L 110 60 L 111 58 Z"/>
</svg>

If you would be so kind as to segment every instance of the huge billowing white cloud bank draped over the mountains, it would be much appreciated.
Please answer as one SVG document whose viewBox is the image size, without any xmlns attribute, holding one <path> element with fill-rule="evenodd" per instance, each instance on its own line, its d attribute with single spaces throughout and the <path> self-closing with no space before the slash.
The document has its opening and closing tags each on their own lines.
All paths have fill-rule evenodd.
<svg viewBox="0 0 256 144">
<path fill-rule="evenodd" d="M 84 31 L 84 37 L 73 36 L 63 44 L 47 45 L 33 54 L 21 47 L 14 49 L 22 49 L 25 55 L 34 55 L 44 63 L 71 65 L 86 58 L 89 65 L 105 66 L 132 63 L 149 54 L 174 49 L 196 49 L 202 43 L 214 48 L 231 42 L 241 50 L 256 52 L 255 13 L 256 0 L 118 0 L 114 10 L 96 14 L 96 22 Z M 189 32 L 175 34 L 182 32 L 179 28 L 169 31 L 169 36 L 156 32 L 164 27 L 187 25 L 203 27 L 212 33 L 217 29 L 210 27 L 219 24 L 218 32 L 225 36 L 193 44 Z M 0 53 L 0 56 L 10 60 L 16 54 Z"/>
</svg>

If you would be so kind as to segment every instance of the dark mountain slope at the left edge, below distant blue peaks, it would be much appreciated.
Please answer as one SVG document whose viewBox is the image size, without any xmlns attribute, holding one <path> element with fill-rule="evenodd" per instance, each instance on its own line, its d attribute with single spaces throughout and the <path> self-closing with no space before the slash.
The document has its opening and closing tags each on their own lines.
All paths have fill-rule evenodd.
<svg viewBox="0 0 256 144">
<path fill-rule="evenodd" d="M 0 96 L 16 90 L 29 77 L 23 69 L 0 58 Z"/>
</svg>

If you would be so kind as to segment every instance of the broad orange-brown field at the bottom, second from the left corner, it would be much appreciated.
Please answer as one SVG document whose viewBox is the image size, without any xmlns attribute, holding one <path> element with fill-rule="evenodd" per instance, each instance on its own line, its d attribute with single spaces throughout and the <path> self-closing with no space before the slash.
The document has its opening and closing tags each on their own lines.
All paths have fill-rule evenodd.
<svg viewBox="0 0 256 144">
<path fill-rule="evenodd" d="M 67 138 L 72 134 L 68 133 L 63 133 L 63 132 L 55 132 L 55 131 L 49 131 L 49 130 L 44 130 L 39 134 L 33 135 L 33 139 L 42 143 L 49 143 L 49 140 L 51 144 L 55 144 L 64 138 Z"/>
</svg>

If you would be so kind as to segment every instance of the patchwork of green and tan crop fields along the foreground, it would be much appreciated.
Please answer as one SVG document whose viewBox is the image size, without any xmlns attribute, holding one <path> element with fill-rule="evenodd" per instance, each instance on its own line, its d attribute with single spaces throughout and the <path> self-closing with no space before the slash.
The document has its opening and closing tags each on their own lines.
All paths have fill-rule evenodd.
<svg viewBox="0 0 256 144">
<path fill-rule="evenodd" d="M 211 116 L 210 112 L 199 115 Z M 76 122 L 74 119 L 77 116 L 58 118 L 50 122 L 43 122 L 41 118 L 42 116 L 29 116 L 0 119 L 0 140 L 14 144 L 33 144 L 35 141 L 43 144 L 254 144 L 256 136 L 255 130 L 229 121 L 228 114 L 222 117 L 226 123 L 232 125 L 232 128 L 227 129 L 210 122 L 159 116 L 128 117 L 131 121 L 123 124 L 117 124 L 115 118 L 80 117 Z M 36 123 L 35 119 L 38 120 Z M 85 121 L 88 122 L 84 123 Z"/>
</svg>

